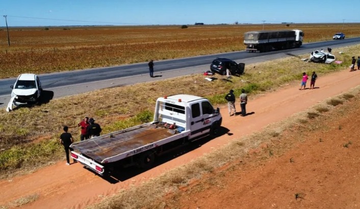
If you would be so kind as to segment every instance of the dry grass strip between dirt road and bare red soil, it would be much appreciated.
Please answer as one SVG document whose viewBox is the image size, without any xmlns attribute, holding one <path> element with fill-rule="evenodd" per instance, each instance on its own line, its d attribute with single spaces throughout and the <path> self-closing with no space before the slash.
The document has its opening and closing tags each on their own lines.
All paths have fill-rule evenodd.
<svg viewBox="0 0 360 209">
<path fill-rule="evenodd" d="M 360 96 L 360 87 L 352 89 L 350 93 L 357 97 Z M 323 101 L 310 107 L 310 111 L 327 106 L 326 104 L 327 102 Z M 242 159 L 249 161 L 249 155 L 253 155 L 252 161 L 261 165 L 269 158 L 281 156 L 289 150 L 293 146 L 293 141 L 289 138 L 302 141 L 304 140 L 301 137 L 303 132 L 325 130 L 327 127 L 323 125 L 324 121 L 333 114 L 348 109 L 349 107 L 346 105 L 345 102 L 339 107 L 329 106 L 329 112 L 319 114 L 314 120 L 307 121 L 306 125 L 299 123 L 299 118 L 309 110 L 299 112 L 285 121 L 269 125 L 261 132 L 233 140 L 187 165 L 174 168 L 140 186 L 123 190 L 88 208 L 180 208 L 180 205 L 177 204 L 179 198 L 189 197 L 193 193 L 203 191 L 209 185 L 216 185 L 220 189 L 221 184 L 217 183 L 221 182 L 221 177 L 228 170 L 241 170 Z M 275 138 L 272 136 L 274 132 L 284 132 L 285 130 L 286 134 L 284 135 Z M 319 141 L 323 142 L 322 139 Z M 351 141 L 343 146 L 348 148 L 350 144 Z M 251 152 L 252 150 L 256 152 Z M 293 159 L 291 161 L 295 162 Z M 191 185 L 191 189 L 183 189 L 189 185 Z"/>
</svg>

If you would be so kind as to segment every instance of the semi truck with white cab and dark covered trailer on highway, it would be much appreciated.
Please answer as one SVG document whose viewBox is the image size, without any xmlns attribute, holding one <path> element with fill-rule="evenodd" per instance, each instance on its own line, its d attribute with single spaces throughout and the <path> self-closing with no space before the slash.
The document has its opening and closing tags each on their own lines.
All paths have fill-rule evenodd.
<svg viewBox="0 0 360 209">
<path fill-rule="evenodd" d="M 303 36 L 304 33 L 299 29 L 251 31 L 244 34 L 244 44 L 248 52 L 298 48 L 302 45 Z"/>
</svg>

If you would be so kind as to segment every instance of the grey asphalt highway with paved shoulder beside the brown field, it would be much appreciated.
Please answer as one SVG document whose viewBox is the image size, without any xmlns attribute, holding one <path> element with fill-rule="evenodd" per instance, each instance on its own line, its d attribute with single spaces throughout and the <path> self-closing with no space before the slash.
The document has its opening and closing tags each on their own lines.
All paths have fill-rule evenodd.
<svg viewBox="0 0 360 209">
<path fill-rule="evenodd" d="M 154 61 L 155 78 L 150 78 L 148 76 L 147 63 L 40 74 L 39 77 L 42 88 L 46 91 L 52 91 L 54 93 L 54 98 L 57 98 L 90 92 L 95 89 L 130 85 L 151 80 L 183 76 L 191 73 L 201 73 L 210 70 L 210 64 L 216 57 L 226 57 L 233 59 L 237 63 L 245 63 L 246 65 L 286 56 L 295 56 L 306 53 L 310 55 L 310 53 L 316 49 L 324 49 L 326 51 L 327 47 L 338 48 L 359 43 L 360 38 L 349 38 L 344 40 L 309 43 L 302 45 L 300 48 L 265 53 L 236 51 Z M 10 85 L 13 85 L 15 80 L 16 78 L 0 80 L 0 106 L 6 106 L 9 102 L 12 90 Z"/>
</svg>

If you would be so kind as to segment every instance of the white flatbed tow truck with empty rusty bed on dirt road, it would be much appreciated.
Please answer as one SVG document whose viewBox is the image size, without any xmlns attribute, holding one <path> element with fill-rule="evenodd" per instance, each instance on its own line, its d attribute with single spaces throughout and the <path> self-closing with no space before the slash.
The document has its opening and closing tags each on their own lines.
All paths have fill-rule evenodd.
<svg viewBox="0 0 360 209">
<path fill-rule="evenodd" d="M 71 158 L 101 176 L 119 166 L 151 168 L 179 146 L 219 133 L 222 116 L 208 99 L 179 94 L 156 101 L 153 121 L 72 143 Z"/>
</svg>

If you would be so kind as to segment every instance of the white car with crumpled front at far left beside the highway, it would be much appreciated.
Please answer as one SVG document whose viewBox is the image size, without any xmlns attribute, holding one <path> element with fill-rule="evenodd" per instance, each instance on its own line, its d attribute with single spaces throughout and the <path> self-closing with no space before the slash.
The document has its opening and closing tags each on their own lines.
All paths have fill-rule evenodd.
<svg viewBox="0 0 360 209">
<path fill-rule="evenodd" d="M 10 87 L 13 90 L 6 111 L 11 111 L 13 105 L 18 107 L 38 103 L 42 88 L 37 75 L 31 73 L 20 74 L 15 84 Z"/>
</svg>

